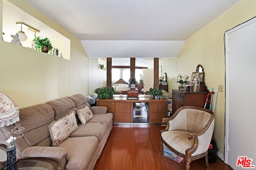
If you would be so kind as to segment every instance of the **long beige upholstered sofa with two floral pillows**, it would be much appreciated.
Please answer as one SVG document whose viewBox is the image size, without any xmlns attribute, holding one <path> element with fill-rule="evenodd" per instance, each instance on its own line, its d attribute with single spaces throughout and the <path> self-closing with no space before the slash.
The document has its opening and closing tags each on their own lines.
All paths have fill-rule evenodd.
<svg viewBox="0 0 256 170">
<path fill-rule="evenodd" d="M 44 157 L 55 160 L 64 170 L 92 170 L 112 129 L 113 114 L 106 113 L 107 107 L 90 107 L 94 116 L 85 125 L 76 114 L 78 129 L 58 147 L 52 147 L 48 129 L 52 121 L 85 106 L 90 107 L 86 98 L 76 94 L 20 109 L 20 121 L 14 125 L 25 130 L 22 131 L 24 136 L 16 141 L 17 159 Z M 13 129 L 14 125 L 7 128 Z"/>
</svg>

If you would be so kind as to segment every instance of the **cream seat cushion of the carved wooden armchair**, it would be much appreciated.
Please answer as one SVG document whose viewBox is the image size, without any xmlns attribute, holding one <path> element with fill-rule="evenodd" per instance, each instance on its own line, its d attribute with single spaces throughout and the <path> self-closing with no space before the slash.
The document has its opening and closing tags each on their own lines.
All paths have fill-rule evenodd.
<svg viewBox="0 0 256 170">
<path fill-rule="evenodd" d="M 194 139 L 188 140 L 188 131 L 164 131 L 161 133 L 162 139 L 170 144 L 173 149 L 185 154 L 185 151 L 193 147 Z"/>
</svg>

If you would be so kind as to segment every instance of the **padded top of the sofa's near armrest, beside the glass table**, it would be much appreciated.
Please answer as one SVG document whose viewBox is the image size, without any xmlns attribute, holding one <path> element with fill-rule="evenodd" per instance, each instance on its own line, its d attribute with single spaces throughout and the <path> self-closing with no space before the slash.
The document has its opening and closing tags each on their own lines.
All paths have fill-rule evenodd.
<svg viewBox="0 0 256 170">
<path fill-rule="evenodd" d="M 28 147 L 23 150 L 22 156 L 56 159 L 65 156 L 65 160 L 68 160 L 68 151 L 61 147 Z"/>
</svg>

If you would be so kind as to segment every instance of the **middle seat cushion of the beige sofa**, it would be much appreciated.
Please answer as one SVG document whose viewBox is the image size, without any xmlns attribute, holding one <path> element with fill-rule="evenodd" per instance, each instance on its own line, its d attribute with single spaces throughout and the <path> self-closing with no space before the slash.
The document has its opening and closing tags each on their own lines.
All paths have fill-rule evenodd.
<svg viewBox="0 0 256 170">
<path fill-rule="evenodd" d="M 106 122 L 88 122 L 85 125 L 78 124 L 78 127 L 70 137 L 96 136 L 99 142 L 106 138 Z"/>
</svg>

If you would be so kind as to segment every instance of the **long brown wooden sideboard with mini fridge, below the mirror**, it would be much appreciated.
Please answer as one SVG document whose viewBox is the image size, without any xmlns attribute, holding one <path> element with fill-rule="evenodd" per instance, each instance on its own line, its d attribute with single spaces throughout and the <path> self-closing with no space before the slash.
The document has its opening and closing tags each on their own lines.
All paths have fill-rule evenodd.
<svg viewBox="0 0 256 170">
<path fill-rule="evenodd" d="M 108 107 L 107 112 L 114 115 L 113 123 L 133 123 L 133 107 L 136 102 L 148 102 L 148 123 L 162 123 L 162 118 L 168 117 L 168 101 L 154 100 L 148 95 L 139 95 L 138 99 L 115 95 L 113 99 L 97 99 L 97 106 Z"/>
</svg>

